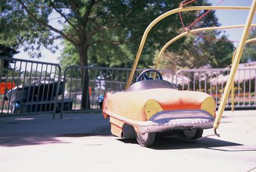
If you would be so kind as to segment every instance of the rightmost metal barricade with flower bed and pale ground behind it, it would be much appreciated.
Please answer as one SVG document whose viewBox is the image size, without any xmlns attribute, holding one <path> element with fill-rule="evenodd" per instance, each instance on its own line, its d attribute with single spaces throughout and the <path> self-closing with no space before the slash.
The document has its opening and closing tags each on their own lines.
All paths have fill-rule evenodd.
<svg viewBox="0 0 256 172">
<path fill-rule="evenodd" d="M 202 91 L 220 103 L 230 69 L 182 69 L 177 71 L 174 83 L 180 90 Z M 238 69 L 235 76 L 235 107 L 256 108 L 256 69 Z M 231 106 L 231 96 L 226 107 Z"/>
</svg>

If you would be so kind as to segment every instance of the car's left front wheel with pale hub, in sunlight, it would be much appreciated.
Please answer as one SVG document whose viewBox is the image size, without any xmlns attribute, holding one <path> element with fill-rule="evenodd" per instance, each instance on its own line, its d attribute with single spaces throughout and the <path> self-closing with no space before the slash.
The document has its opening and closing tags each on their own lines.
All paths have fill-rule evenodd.
<svg viewBox="0 0 256 172">
<path fill-rule="evenodd" d="M 136 139 L 141 147 L 150 147 L 153 145 L 156 138 L 156 133 L 136 133 Z"/>
</svg>

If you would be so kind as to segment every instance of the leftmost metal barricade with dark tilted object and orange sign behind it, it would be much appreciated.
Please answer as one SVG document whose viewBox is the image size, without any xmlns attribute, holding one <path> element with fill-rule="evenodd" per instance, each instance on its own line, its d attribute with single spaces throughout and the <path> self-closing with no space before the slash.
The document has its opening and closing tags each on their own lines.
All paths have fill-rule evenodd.
<svg viewBox="0 0 256 172">
<path fill-rule="evenodd" d="M 60 77 L 58 64 L 0 57 L 0 117 L 60 111 Z"/>
</svg>

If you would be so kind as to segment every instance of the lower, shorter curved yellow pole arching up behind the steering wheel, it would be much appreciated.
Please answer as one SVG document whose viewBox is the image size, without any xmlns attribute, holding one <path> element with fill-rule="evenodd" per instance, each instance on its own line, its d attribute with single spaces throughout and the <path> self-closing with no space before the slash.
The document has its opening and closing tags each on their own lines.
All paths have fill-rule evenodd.
<svg viewBox="0 0 256 172">
<path fill-rule="evenodd" d="M 256 24 L 252 24 L 253 27 L 256 26 Z M 171 39 L 170 41 L 168 41 L 168 43 L 166 43 L 166 45 L 164 45 L 164 47 L 160 50 L 158 56 L 157 56 L 157 61 L 156 61 L 156 66 L 155 69 L 158 68 L 160 59 L 164 53 L 164 51 L 166 50 L 166 48 L 170 47 L 170 45 L 172 45 L 172 43 L 174 43 L 175 41 L 177 41 L 178 39 L 187 36 L 188 34 L 191 33 L 196 33 L 196 32 L 202 32 L 202 31 L 213 31 L 213 30 L 221 30 L 221 29 L 234 29 L 234 28 L 239 28 L 239 27 L 244 27 L 244 25 L 229 25 L 229 26 L 219 26 L 219 27 L 204 27 L 204 28 L 200 28 L 200 29 L 194 29 L 191 31 L 186 31 L 183 32 L 182 34 L 179 34 L 178 36 L 175 36 L 173 39 Z"/>
</svg>

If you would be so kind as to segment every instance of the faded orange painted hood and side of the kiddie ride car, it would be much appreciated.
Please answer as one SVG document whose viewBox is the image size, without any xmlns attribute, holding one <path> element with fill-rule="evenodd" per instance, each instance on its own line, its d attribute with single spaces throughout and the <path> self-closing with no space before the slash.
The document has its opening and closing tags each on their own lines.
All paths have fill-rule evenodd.
<svg viewBox="0 0 256 172">
<path fill-rule="evenodd" d="M 148 89 L 134 92 L 118 92 L 115 94 L 108 93 L 104 98 L 103 114 L 105 118 L 108 117 L 108 114 L 105 113 L 108 110 L 132 120 L 146 121 L 147 115 L 144 107 L 150 99 L 156 100 L 164 111 L 200 110 L 202 103 L 208 97 L 211 96 L 204 92 L 175 89 Z M 212 103 L 214 104 L 214 101 Z M 215 116 L 215 110 L 209 110 L 209 113 Z"/>
</svg>

